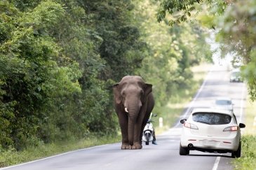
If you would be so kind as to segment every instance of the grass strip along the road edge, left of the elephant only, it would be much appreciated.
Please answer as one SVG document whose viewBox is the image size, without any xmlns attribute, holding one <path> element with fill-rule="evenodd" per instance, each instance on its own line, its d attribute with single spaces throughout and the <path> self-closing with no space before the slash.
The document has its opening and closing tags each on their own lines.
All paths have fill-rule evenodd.
<svg viewBox="0 0 256 170">
<path fill-rule="evenodd" d="M 90 136 L 88 139 L 81 139 L 79 141 L 63 141 L 62 143 L 50 144 L 42 143 L 41 146 L 27 148 L 27 150 L 19 152 L 16 150 L 0 151 L 0 167 L 7 167 L 13 164 L 39 160 L 43 157 L 58 155 L 72 150 L 100 146 L 106 143 L 117 143 L 120 141 L 121 136 Z"/>
</svg>

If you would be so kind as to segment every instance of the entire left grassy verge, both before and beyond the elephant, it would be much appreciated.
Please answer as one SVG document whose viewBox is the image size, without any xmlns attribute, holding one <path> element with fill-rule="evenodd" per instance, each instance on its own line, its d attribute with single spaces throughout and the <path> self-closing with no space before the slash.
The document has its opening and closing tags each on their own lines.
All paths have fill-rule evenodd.
<svg viewBox="0 0 256 170">
<path fill-rule="evenodd" d="M 193 98 L 194 94 L 203 82 L 203 78 L 206 76 L 209 66 L 202 64 L 192 69 L 194 72 L 194 83 L 191 86 L 191 90 L 181 90 L 170 100 L 170 104 L 161 108 L 159 117 L 163 118 L 163 127 L 157 127 L 156 122 L 156 135 L 161 134 L 173 126 L 177 118 L 180 118 L 180 114 L 184 108 L 189 104 L 189 101 Z M 159 118 L 158 117 L 158 118 Z M 155 120 L 156 121 L 156 120 Z M 22 162 L 29 162 L 33 160 L 39 160 L 43 157 L 49 157 L 58 155 L 60 153 L 66 153 L 72 150 L 79 150 L 82 148 L 89 148 L 92 146 L 100 146 L 106 143 L 116 143 L 121 141 L 121 134 L 117 136 L 90 136 L 87 139 L 81 139 L 79 141 L 63 141 L 62 143 L 41 143 L 36 147 L 27 148 L 23 151 L 16 150 L 1 150 L 0 149 L 0 167 L 7 167 L 14 164 L 20 164 Z"/>
</svg>

